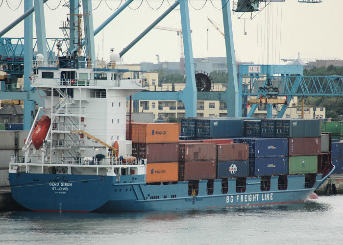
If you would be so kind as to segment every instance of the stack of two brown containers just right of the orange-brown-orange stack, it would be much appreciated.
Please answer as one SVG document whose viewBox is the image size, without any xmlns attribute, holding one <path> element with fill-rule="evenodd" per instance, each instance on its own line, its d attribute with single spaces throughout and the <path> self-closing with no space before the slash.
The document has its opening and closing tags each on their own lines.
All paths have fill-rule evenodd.
<svg viewBox="0 0 343 245">
<path fill-rule="evenodd" d="M 216 143 L 179 144 L 179 181 L 216 178 Z"/>
</svg>

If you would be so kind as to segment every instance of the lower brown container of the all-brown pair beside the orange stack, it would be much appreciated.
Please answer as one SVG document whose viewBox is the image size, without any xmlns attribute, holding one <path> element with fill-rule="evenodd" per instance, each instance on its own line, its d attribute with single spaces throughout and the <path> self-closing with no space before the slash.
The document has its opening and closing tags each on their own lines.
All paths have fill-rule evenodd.
<svg viewBox="0 0 343 245">
<path fill-rule="evenodd" d="M 216 160 L 180 161 L 178 176 L 179 181 L 215 179 L 216 171 Z"/>
</svg>

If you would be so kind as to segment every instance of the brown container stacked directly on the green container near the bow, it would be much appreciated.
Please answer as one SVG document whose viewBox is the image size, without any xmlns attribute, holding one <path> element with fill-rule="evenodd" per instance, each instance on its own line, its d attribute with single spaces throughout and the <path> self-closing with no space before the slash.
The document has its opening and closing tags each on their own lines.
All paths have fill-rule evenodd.
<svg viewBox="0 0 343 245">
<path fill-rule="evenodd" d="M 321 150 L 321 138 L 291 138 L 290 156 L 319 155 Z"/>
</svg>

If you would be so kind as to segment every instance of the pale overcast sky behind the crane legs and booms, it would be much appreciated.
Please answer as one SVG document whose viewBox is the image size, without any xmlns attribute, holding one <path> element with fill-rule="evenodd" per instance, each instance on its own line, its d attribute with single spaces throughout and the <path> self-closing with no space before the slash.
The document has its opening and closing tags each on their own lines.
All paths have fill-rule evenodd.
<svg viewBox="0 0 343 245">
<path fill-rule="evenodd" d="M 124 1 L 124 0 L 123 0 Z M 18 10 L 9 9 L 6 0 L 0 0 L 0 29 L 12 23 L 24 12 L 24 0 Z M 21 0 L 7 0 L 16 8 Z M 49 0 L 50 8 L 56 8 L 60 0 Z M 56 10 L 45 4 L 47 37 L 62 38 L 60 21 L 66 21 L 69 9 L 63 7 L 65 0 Z M 118 7 L 120 0 L 93 0 L 94 28 L 97 28 Z M 141 0 L 134 0 L 129 6 L 136 9 Z M 172 4 L 174 1 L 169 0 Z M 233 0 L 230 0 L 232 5 Z M 148 25 L 159 17 L 170 5 L 167 0 L 143 0 L 137 10 L 126 8 L 116 19 L 95 37 L 96 55 L 109 60 L 110 48 L 121 51 Z M 264 4 L 264 3 L 261 3 Z M 150 5 L 150 6 L 149 6 Z M 151 8 L 158 8 L 152 10 Z M 204 6 L 203 6 L 204 5 Z M 202 7 L 203 6 L 203 7 Z M 202 8 L 201 8 L 202 7 Z M 179 8 L 179 7 L 177 7 Z M 201 9 L 200 9 L 201 8 Z M 200 10 L 196 10 L 200 9 Z M 220 0 L 191 0 L 189 2 L 192 29 L 193 56 L 224 57 L 225 43 L 221 33 L 208 21 L 209 17 L 222 27 Z M 343 59 L 343 0 L 323 0 L 321 3 L 299 3 L 297 0 L 273 2 L 264 8 L 253 20 L 238 19 L 231 11 L 234 47 L 240 61 L 255 64 L 286 64 L 280 59 L 300 58 Z M 180 11 L 174 10 L 159 26 L 181 28 Z M 208 31 L 207 31 L 208 29 Z M 245 32 L 246 31 L 246 35 Z M 34 28 L 34 36 L 35 28 Z M 17 25 L 4 37 L 23 37 L 24 22 Z M 179 37 L 176 32 L 153 29 L 132 49 L 123 55 L 125 63 L 153 62 L 156 55 L 160 61 L 179 60 Z M 103 55 L 102 55 L 103 54 Z"/>
</svg>

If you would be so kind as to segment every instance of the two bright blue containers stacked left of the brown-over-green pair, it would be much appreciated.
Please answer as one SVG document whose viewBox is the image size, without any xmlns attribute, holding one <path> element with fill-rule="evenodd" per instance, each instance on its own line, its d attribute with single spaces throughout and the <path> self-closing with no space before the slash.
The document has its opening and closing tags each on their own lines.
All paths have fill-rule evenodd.
<svg viewBox="0 0 343 245">
<path fill-rule="evenodd" d="M 240 138 L 235 143 L 249 145 L 249 176 L 288 173 L 288 139 Z"/>
</svg>

